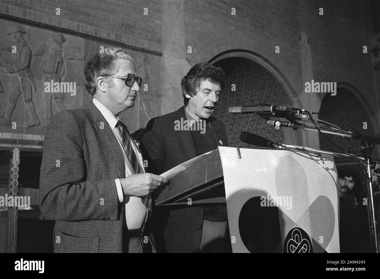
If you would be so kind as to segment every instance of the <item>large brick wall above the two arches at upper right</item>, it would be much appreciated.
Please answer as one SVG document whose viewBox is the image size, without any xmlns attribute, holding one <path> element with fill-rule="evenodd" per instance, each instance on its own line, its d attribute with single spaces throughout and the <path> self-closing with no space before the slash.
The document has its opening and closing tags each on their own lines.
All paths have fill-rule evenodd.
<svg viewBox="0 0 380 279">
<path fill-rule="evenodd" d="M 367 1 L 219 1 L 185 2 L 187 59 L 195 64 L 222 51 L 243 48 L 272 62 L 304 91 L 300 33 L 307 34 L 315 81 L 347 82 L 377 111 L 369 46 L 370 5 Z M 236 15 L 231 15 L 236 8 Z M 323 16 L 319 15 L 323 8 Z M 280 53 L 275 53 L 280 46 Z M 318 94 L 318 93 L 317 93 Z M 320 100 L 323 94 L 318 94 Z"/>
</svg>

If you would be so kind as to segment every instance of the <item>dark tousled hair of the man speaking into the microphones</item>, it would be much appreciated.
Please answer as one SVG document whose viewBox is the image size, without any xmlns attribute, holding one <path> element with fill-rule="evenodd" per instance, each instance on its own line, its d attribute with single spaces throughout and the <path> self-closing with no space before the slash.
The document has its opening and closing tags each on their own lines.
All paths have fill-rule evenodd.
<svg viewBox="0 0 380 279">
<path fill-rule="evenodd" d="M 196 64 L 181 81 L 182 95 L 184 96 L 184 104 L 186 106 L 189 102 L 189 98 L 185 95 L 195 96 L 199 84 L 206 79 L 220 84 L 222 91 L 226 85 L 226 75 L 222 68 L 205 62 Z"/>
</svg>

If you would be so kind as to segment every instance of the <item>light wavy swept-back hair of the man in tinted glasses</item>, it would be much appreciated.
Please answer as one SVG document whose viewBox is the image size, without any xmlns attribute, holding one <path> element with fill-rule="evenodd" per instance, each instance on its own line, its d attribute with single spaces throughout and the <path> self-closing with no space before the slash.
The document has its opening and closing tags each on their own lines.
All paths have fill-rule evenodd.
<svg viewBox="0 0 380 279">
<path fill-rule="evenodd" d="M 84 68 L 84 76 L 86 78 L 87 91 L 94 95 L 96 93 L 96 79 L 103 75 L 115 74 L 115 61 L 117 59 L 126 59 L 134 63 L 132 57 L 122 48 L 109 47 L 104 52 L 97 52 L 87 61 L 87 66 Z M 109 79 L 110 77 L 106 77 Z"/>
</svg>

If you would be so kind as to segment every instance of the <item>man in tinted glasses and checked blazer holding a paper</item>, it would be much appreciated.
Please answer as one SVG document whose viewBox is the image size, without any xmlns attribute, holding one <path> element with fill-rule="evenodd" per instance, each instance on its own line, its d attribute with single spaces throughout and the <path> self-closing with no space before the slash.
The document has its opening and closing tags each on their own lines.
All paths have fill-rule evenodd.
<svg viewBox="0 0 380 279">
<path fill-rule="evenodd" d="M 141 86 L 121 48 L 97 52 L 85 68 L 93 100 L 57 113 L 44 138 L 40 209 L 55 220 L 54 252 L 144 252 L 152 193 L 167 182 L 145 173 L 139 149 L 119 113 Z M 146 232 L 145 232 L 146 233 Z"/>
</svg>

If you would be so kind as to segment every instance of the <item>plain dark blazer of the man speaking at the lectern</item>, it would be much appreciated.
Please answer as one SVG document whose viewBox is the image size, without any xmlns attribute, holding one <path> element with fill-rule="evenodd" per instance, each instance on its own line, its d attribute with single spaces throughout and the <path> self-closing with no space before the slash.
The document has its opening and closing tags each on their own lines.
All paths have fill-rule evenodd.
<svg viewBox="0 0 380 279">
<path fill-rule="evenodd" d="M 142 155 L 148 160 L 148 172 L 161 174 L 196 157 L 191 132 L 174 130 L 174 121 L 181 118 L 186 120 L 184 106 L 148 122 L 141 143 Z M 210 125 L 215 143 L 228 146 L 222 120 L 211 116 Z M 152 230 L 158 252 L 199 251 L 203 206 L 156 206 L 151 224 L 155 225 Z"/>
</svg>

